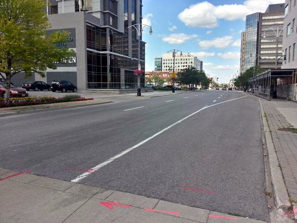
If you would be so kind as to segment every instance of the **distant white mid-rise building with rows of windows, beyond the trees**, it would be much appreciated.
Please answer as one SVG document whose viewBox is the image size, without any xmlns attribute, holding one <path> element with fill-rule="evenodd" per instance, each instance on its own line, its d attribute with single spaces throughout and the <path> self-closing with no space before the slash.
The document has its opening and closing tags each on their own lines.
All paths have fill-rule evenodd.
<svg viewBox="0 0 297 223">
<path fill-rule="evenodd" d="M 203 70 L 203 61 L 191 54 L 177 53 L 175 55 L 175 62 L 172 53 L 163 54 L 162 56 L 162 71 L 172 71 L 173 63 L 175 63 L 175 72 L 180 72 L 188 67 L 196 67 L 198 70 Z"/>
</svg>

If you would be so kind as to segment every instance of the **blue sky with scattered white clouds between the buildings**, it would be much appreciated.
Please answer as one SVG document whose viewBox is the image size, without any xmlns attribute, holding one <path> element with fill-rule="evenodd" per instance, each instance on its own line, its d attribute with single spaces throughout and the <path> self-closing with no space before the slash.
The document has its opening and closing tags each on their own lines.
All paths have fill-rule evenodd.
<svg viewBox="0 0 297 223">
<path fill-rule="evenodd" d="M 222 3 L 223 2 L 223 3 Z M 264 12 L 271 3 L 284 0 L 143 0 L 146 71 L 154 69 L 154 57 L 177 49 L 201 59 L 204 70 L 228 83 L 239 70 L 241 32 L 245 17 Z"/>
</svg>

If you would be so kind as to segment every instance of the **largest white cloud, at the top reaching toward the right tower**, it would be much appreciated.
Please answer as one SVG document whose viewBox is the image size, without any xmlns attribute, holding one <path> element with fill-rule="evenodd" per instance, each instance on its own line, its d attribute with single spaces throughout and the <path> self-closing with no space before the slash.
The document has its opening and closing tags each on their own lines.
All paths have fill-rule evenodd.
<svg viewBox="0 0 297 223">
<path fill-rule="evenodd" d="M 234 21 L 246 19 L 246 15 L 264 12 L 269 4 L 283 3 L 284 0 L 246 0 L 243 4 L 213 5 L 208 1 L 190 5 L 178 17 L 187 26 L 214 28 L 219 19 Z"/>
</svg>

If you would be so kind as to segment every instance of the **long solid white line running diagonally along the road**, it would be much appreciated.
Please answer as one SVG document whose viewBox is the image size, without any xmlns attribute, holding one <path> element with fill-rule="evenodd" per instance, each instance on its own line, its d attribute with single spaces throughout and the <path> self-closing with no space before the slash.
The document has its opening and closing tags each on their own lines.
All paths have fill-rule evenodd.
<svg viewBox="0 0 297 223">
<path fill-rule="evenodd" d="M 129 149 L 126 149 L 125 151 L 119 153 L 118 155 L 115 155 L 114 157 L 110 158 L 109 160 L 107 160 L 107 161 L 105 161 L 105 162 L 103 162 L 103 163 L 101 163 L 101 164 L 99 164 L 99 165 L 97 165 L 97 166 L 95 166 L 95 167 L 93 167 L 93 168 L 90 168 L 90 169 L 92 169 L 93 171 L 84 172 L 84 173 L 82 173 L 81 175 L 79 175 L 78 177 L 76 177 L 75 179 L 71 180 L 71 182 L 75 182 L 75 183 L 77 183 L 77 182 L 81 181 L 82 179 L 84 179 L 85 177 L 87 177 L 89 174 L 91 174 L 91 173 L 93 173 L 93 172 L 96 172 L 96 170 L 98 170 L 99 168 L 104 167 L 104 166 L 106 166 L 107 164 L 111 163 L 112 161 L 114 161 L 114 160 L 116 160 L 116 159 L 118 159 L 118 158 L 124 156 L 125 154 L 129 153 L 130 151 L 132 151 L 132 150 L 138 148 L 139 146 L 145 144 L 146 142 L 148 142 L 149 140 L 153 139 L 154 137 L 160 135 L 161 133 L 165 132 L 166 130 L 172 128 L 173 126 L 175 126 L 175 125 L 181 123 L 182 121 L 186 120 L 187 118 L 193 116 L 194 114 L 196 114 L 196 113 L 198 113 L 198 112 L 200 112 L 200 111 L 202 111 L 202 110 L 204 110 L 204 109 L 207 109 L 207 108 L 210 108 L 210 107 L 212 107 L 212 106 L 216 106 L 216 105 L 219 105 L 219 104 L 222 104 L 222 103 L 226 103 L 226 102 L 234 101 L 234 100 L 237 100 L 237 99 L 245 98 L 245 97 L 247 97 L 247 96 L 243 96 L 243 97 L 240 97 L 240 98 L 235 98 L 235 99 L 231 99 L 231 100 L 228 100 L 228 101 L 224 101 L 224 102 L 220 102 L 220 103 L 217 103 L 217 104 L 213 104 L 213 105 L 210 105 L 210 106 L 203 107 L 202 109 L 200 109 L 200 110 L 198 110 L 198 111 L 195 111 L 194 113 L 192 113 L 192 114 L 190 114 L 190 115 L 188 115 L 188 116 L 186 116 L 186 117 L 180 119 L 179 121 L 177 121 L 177 122 L 175 122 L 175 123 L 169 125 L 168 127 L 164 128 L 164 129 L 162 129 L 161 131 L 155 133 L 154 135 L 148 137 L 148 138 L 145 139 L 144 141 L 142 141 L 142 142 L 136 144 L 135 146 L 132 146 L 132 147 L 130 147 Z"/>
</svg>

